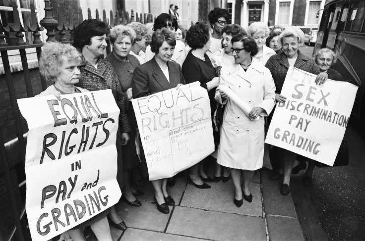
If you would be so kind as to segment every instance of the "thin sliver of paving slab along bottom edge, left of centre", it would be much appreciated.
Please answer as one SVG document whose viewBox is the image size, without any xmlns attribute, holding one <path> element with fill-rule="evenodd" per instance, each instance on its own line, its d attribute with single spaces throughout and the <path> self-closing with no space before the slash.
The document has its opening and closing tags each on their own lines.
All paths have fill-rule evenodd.
<svg viewBox="0 0 365 241">
<path fill-rule="evenodd" d="M 202 240 L 196 238 L 184 237 L 180 235 L 164 234 L 159 232 L 128 228 L 124 232 L 121 241 L 202 241 Z"/>
</svg>

